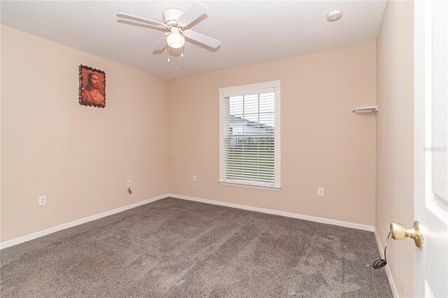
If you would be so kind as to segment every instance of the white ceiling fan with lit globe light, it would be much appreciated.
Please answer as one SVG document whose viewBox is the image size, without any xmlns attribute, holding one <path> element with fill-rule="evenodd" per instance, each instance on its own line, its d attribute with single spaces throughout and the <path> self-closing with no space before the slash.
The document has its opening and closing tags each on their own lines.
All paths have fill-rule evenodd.
<svg viewBox="0 0 448 298">
<path fill-rule="evenodd" d="M 198 2 L 193 3 L 186 11 L 179 8 L 168 8 L 163 11 L 163 20 L 165 21 L 165 24 L 144 19 L 142 17 L 135 17 L 134 15 L 127 15 L 126 13 L 118 13 L 117 17 L 144 24 L 151 24 L 158 27 L 157 29 L 165 29 L 168 31 L 155 44 L 153 48 L 155 51 L 165 50 L 167 45 L 170 48 L 182 48 L 183 45 L 185 45 L 185 37 L 197 41 L 198 43 L 208 45 L 210 48 L 218 48 L 220 41 L 190 29 L 184 29 L 206 11 L 207 8 Z"/>
</svg>

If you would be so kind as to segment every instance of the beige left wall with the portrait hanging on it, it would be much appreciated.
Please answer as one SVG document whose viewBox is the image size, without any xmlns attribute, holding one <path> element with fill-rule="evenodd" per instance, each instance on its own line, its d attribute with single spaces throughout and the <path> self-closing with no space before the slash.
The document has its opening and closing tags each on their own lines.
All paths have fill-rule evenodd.
<svg viewBox="0 0 448 298">
<path fill-rule="evenodd" d="M 106 108 L 78 104 L 79 64 Z M 165 80 L 2 26 L 1 241 L 169 192 L 168 108 Z"/>
</svg>

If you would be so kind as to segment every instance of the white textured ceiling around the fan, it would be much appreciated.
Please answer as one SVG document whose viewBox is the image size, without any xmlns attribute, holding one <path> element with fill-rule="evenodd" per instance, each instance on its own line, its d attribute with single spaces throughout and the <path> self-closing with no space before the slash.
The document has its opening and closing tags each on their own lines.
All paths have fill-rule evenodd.
<svg viewBox="0 0 448 298">
<path fill-rule="evenodd" d="M 201 1 L 209 10 L 191 29 L 218 50 L 186 42 L 185 55 L 153 54 L 163 32 L 117 22 L 128 13 L 163 22 L 166 8 L 193 1 L 1 1 L 1 24 L 163 78 L 228 69 L 375 41 L 386 1 Z M 328 22 L 335 9 L 342 19 Z"/>
</svg>

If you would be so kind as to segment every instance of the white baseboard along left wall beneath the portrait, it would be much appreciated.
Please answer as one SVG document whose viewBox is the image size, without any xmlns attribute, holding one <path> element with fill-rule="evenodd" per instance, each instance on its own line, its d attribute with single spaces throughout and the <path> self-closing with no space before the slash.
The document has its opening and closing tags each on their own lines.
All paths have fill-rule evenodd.
<svg viewBox="0 0 448 298">
<path fill-rule="evenodd" d="M 3 241 L 3 242 L 0 243 L 0 249 L 8 248 L 10 246 L 15 246 L 17 244 L 20 244 L 20 243 L 23 243 L 23 242 L 26 242 L 26 241 L 30 241 L 32 239 L 36 239 L 36 238 L 41 237 L 41 236 L 45 236 L 45 235 L 48 235 L 48 234 L 59 232 L 62 229 L 68 229 L 69 227 L 74 227 L 76 225 L 81 225 L 81 224 L 83 224 L 85 222 L 91 222 L 92 220 L 97 220 L 99 218 L 104 218 L 105 216 L 109 216 L 109 215 L 112 215 L 112 214 L 115 214 L 115 213 L 123 212 L 123 211 L 126 211 L 128 209 L 132 209 L 132 208 L 144 205 L 144 204 L 151 203 L 153 201 L 157 201 L 159 199 L 164 199 L 166 197 L 168 197 L 168 194 L 162 194 L 161 196 L 153 197 L 151 199 L 146 199 L 144 201 L 139 201 L 137 203 L 130 204 L 130 205 L 127 205 L 127 206 L 123 206 L 123 207 L 120 207 L 120 208 L 116 208 L 116 209 L 113 209 L 111 211 L 106 211 L 106 212 L 103 212 L 103 213 L 91 215 L 91 216 L 88 216 L 87 218 L 81 218 L 80 220 L 73 220 L 72 222 L 67 222 L 67 223 L 64 223 L 62 225 L 57 225 L 56 227 L 50 227 L 48 229 L 44 229 L 44 230 L 39 231 L 39 232 L 35 232 L 35 233 L 32 233 L 32 234 L 21 236 L 21 237 L 18 237 L 18 238 L 15 238 L 15 239 L 11 239 L 11 240 L 8 240 L 8 241 Z"/>
</svg>

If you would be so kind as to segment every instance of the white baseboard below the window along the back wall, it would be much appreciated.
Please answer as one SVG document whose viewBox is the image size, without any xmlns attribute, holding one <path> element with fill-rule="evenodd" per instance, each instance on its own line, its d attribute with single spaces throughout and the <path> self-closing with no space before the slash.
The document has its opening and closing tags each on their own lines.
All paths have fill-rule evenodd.
<svg viewBox="0 0 448 298">
<path fill-rule="evenodd" d="M 315 216 L 310 216 L 310 215 L 302 215 L 302 214 L 290 213 L 290 212 L 285 212 L 285 211 L 277 211 L 277 210 L 266 209 L 266 208 L 258 208 L 258 207 L 252 207 L 252 206 L 246 206 L 246 205 L 226 203 L 225 201 L 214 201 L 211 199 L 200 199 L 197 197 L 188 197 L 188 196 L 184 196 L 181 194 L 169 194 L 169 197 L 174 197 L 176 199 L 186 199 L 188 201 L 200 201 L 202 203 L 207 203 L 207 204 L 227 206 L 227 207 L 232 207 L 232 208 L 257 211 L 257 212 L 261 212 L 261 213 L 281 215 L 281 216 L 286 216 L 288 218 L 299 218 L 301 220 L 310 220 L 312 222 L 321 222 L 321 223 L 325 223 L 328 225 L 339 225 L 341 227 L 351 227 L 352 229 L 363 229 L 365 231 L 370 231 L 370 232 L 373 232 L 373 230 L 374 230 L 374 227 L 371 225 L 361 225 L 361 224 L 354 223 L 354 222 L 344 222 L 341 220 L 331 220 L 328 218 L 317 218 Z"/>
</svg>

